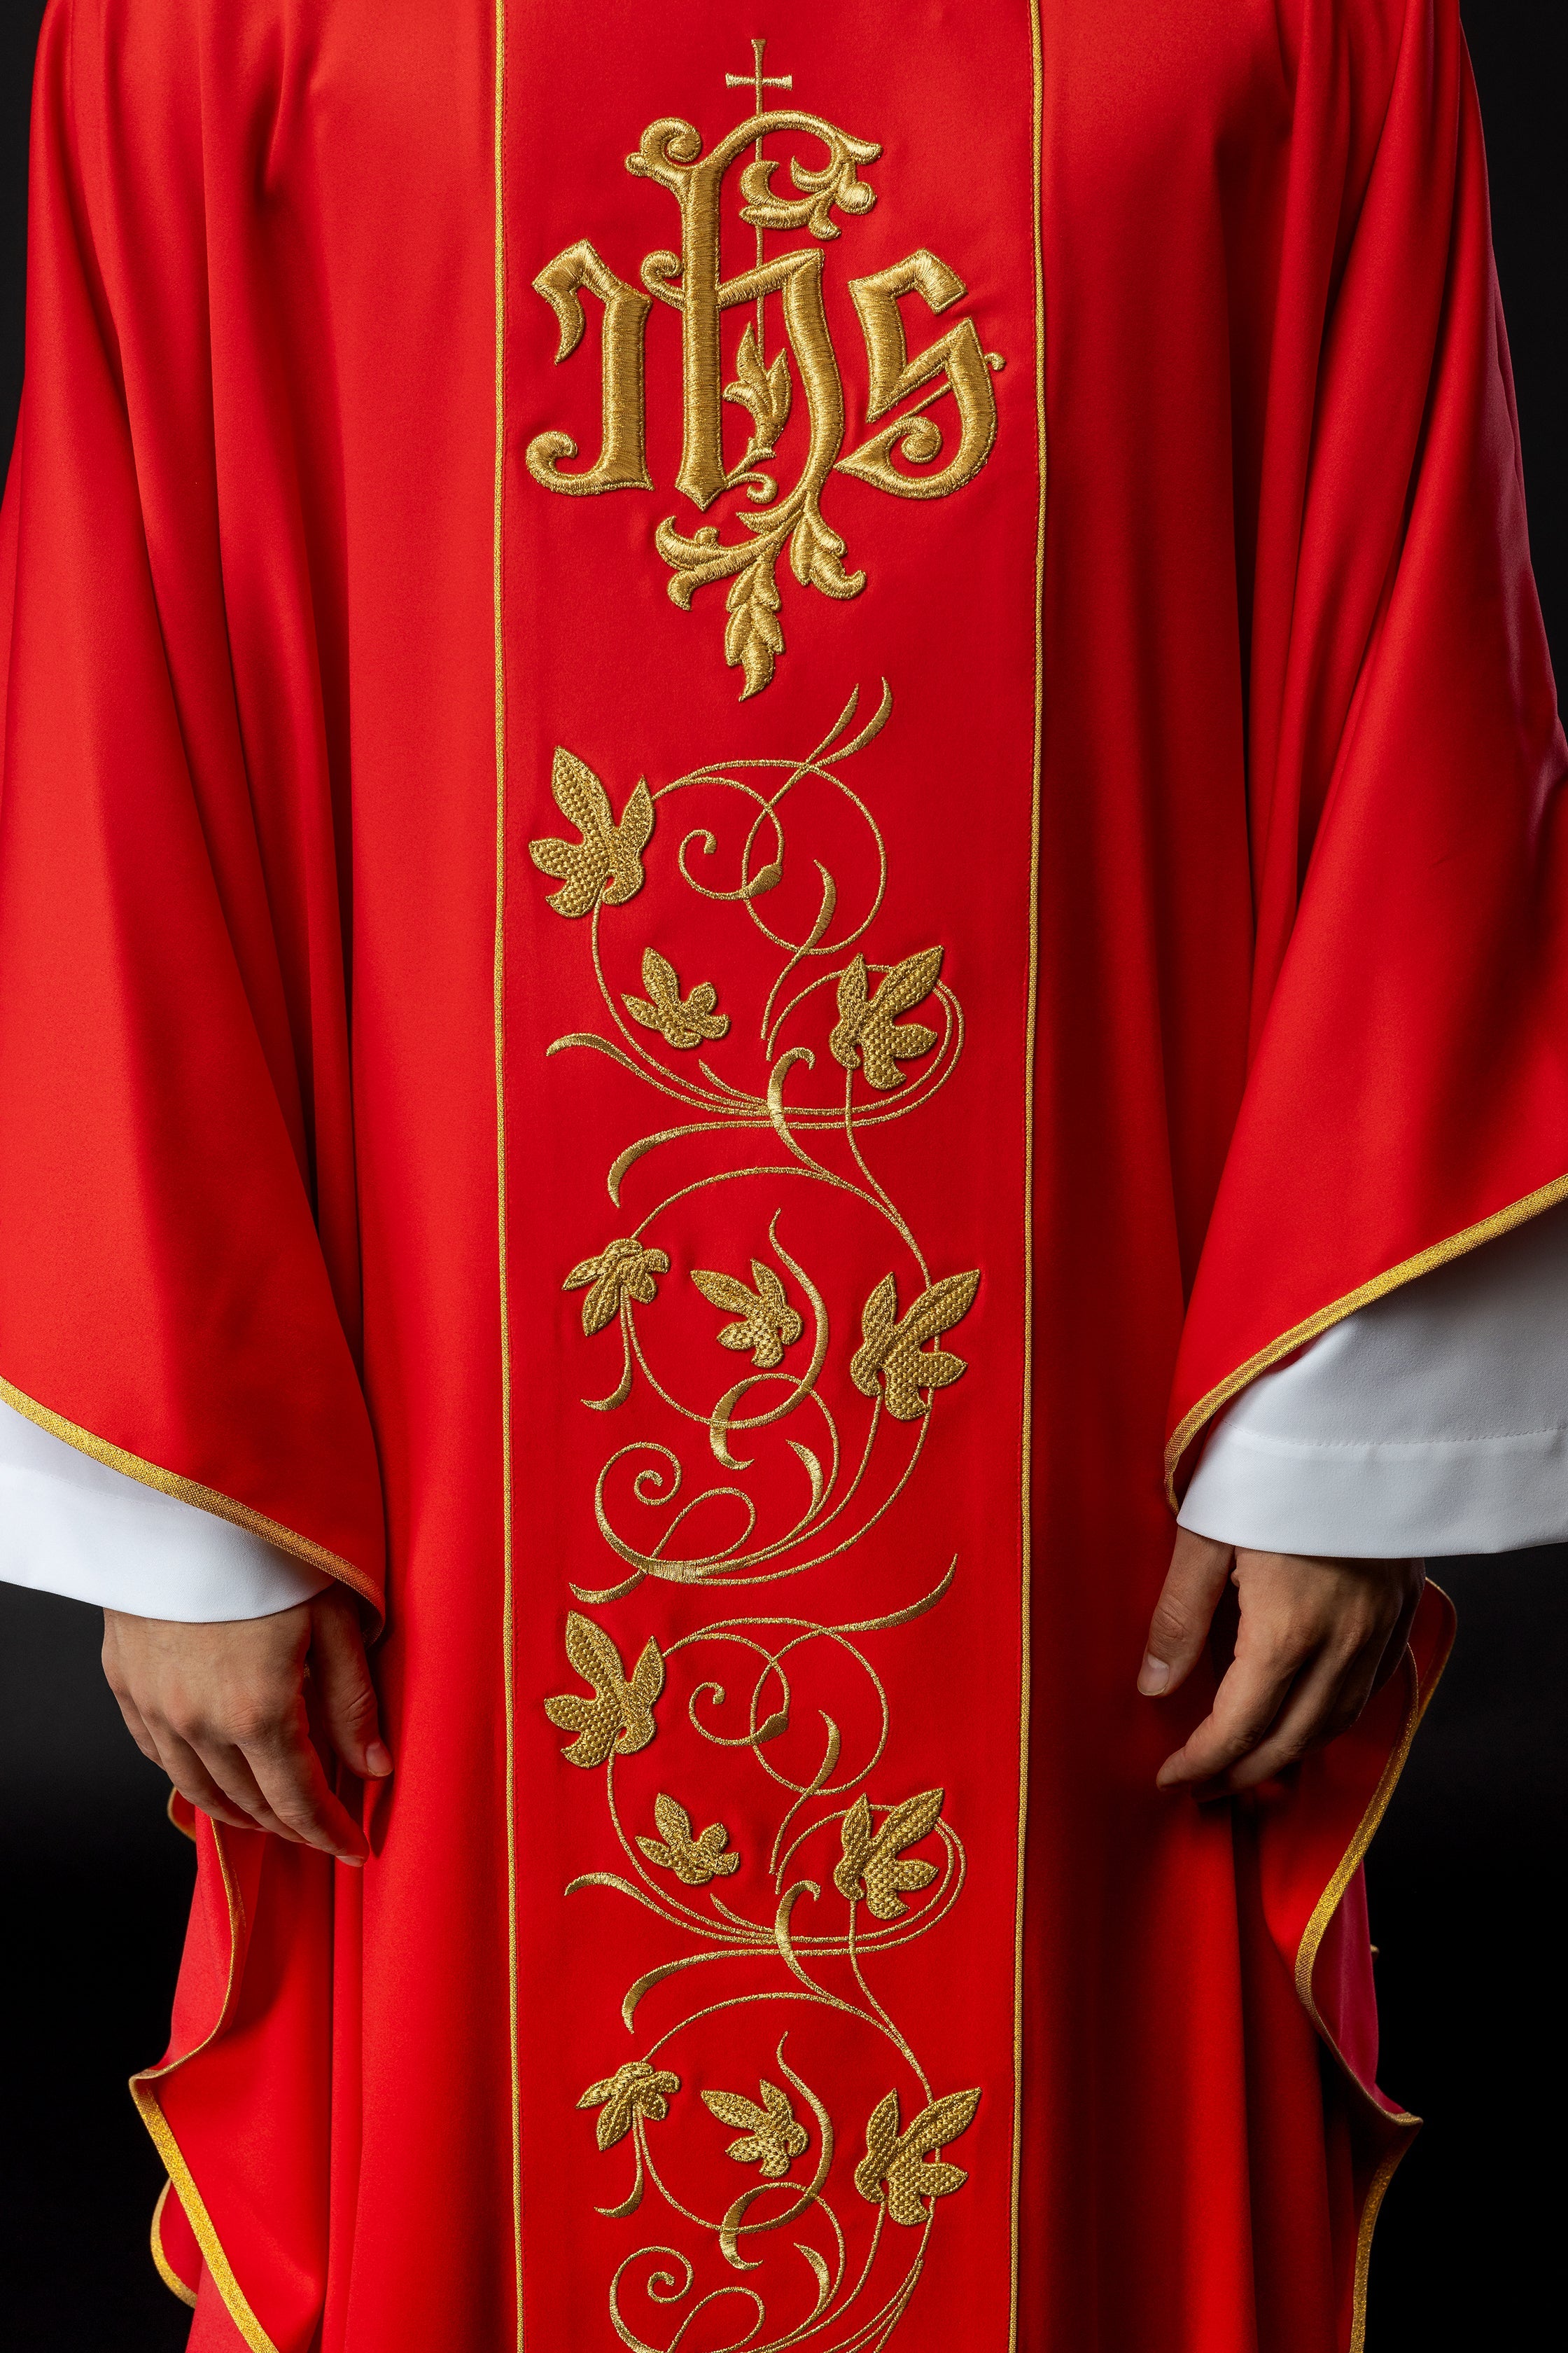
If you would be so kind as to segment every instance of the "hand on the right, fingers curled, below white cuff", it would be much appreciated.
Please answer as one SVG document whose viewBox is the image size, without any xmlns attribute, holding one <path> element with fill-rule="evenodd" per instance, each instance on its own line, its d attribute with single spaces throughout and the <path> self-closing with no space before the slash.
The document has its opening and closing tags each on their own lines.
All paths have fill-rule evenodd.
<svg viewBox="0 0 1568 2353">
<path fill-rule="evenodd" d="M 1255 1788 L 1354 1725 L 1399 1666 L 1425 1584 L 1420 1560 L 1239 1553 L 1178 1527 L 1138 1689 L 1175 1692 L 1215 1628 L 1227 1586 L 1234 1649 L 1213 1708 L 1159 1767 L 1199 1798 Z"/>
</svg>

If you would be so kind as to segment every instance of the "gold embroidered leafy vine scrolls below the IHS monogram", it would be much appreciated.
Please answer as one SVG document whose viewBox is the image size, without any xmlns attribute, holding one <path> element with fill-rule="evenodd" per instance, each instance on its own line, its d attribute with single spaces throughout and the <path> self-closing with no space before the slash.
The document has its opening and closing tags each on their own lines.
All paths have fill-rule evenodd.
<svg viewBox="0 0 1568 2353">
<path fill-rule="evenodd" d="M 632 1913 L 611 1934 L 632 1958 L 646 1955 L 644 1913 L 679 1944 L 675 1958 L 628 1977 L 621 2024 L 637 2033 L 644 1998 L 677 1981 L 679 2014 L 639 2035 L 637 2057 L 607 2064 L 578 2097 L 578 2108 L 597 2115 L 599 2151 L 625 2146 L 623 2181 L 599 2212 L 618 2221 L 639 2214 L 649 2195 L 663 2207 L 658 2238 L 623 2257 L 609 2285 L 611 2320 L 639 2348 L 646 2337 L 628 2318 L 628 2292 L 665 2292 L 670 2231 L 679 2233 L 675 2261 L 682 2297 L 693 2292 L 691 2315 L 738 2299 L 748 2329 L 769 2341 L 811 2332 L 823 2353 L 865 2344 L 865 2329 L 903 2311 L 914 2292 L 938 2207 L 966 2181 L 950 2146 L 980 2106 L 980 2087 L 945 2082 L 940 2054 L 922 2057 L 877 1991 L 884 1953 L 933 1937 L 964 1892 L 964 1835 L 945 1788 L 905 1791 L 884 1765 L 893 1701 L 879 1657 L 884 1638 L 936 1609 L 959 1574 L 954 1555 L 924 1581 L 933 1562 L 922 1560 L 912 1513 L 931 1412 L 966 1369 L 957 1341 L 983 1282 L 983 1268 L 945 1264 L 940 1233 L 929 1245 L 914 1233 L 877 1167 L 893 1158 L 889 1144 L 905 1122 L 938 1115 L 964 1052 L 964 1009 L 943 981 L 943 941 L 896 962 L 875 958 L 889 845 L 844 769 L 891 708 L 884 687 L 875 715 L 851 734 L 851 694 L 802 755 L 705 762 L 656 791 L 637 779 L 618 812 L 588 760 L 559 746 L 550 791 L 569 833 L 529 840 L 534 866 L 559 885 L 548 906 L 581 927 L 574 946 L 585 995 L 592 991 L 592 1021 L 555 1038 L 548 1052 L 609 1061 L 637 1080 L 658 1120 L 628 1136 L 604 1169 L 607 1221 L 618 1231 L 562 1271 L 562 1289 L 581 1294 L 583 1341 L 599 1344 L 583 1351 L 585 1365 L 609 1358 L 614 1372 L 583 1407 L 630 1419 L 632 1433 L 616 1431 L 592 1487 L 607 1581 L 574 1584 L 581 1607 L 567 1617 L 562 1659 L 574 1687 L 543 1701 L 548 1720 L 569 1734 L 562 1758 L 602 1779 L 614 1852 L 614 1868 L 574 1873 L 567 1894 L 621 1897 Z M 865 831 L 863 908 L 839 892 L 842 856 L 830 864 L 820 854 L 827 842 L 813 845 L 811 833 L 792 838 L 802 814 L 806 824 L 816 816 L 818 835 L 835 831 L 832 819 L 842 831 L 846 816 L 851 831 Z M 771 899 L 785 864 L 806 859 L 820 894 L 797 936 L 778 925 Z M 649 932 L 654 906 L 635 906 L 654 901 L 646 880 L 656 864 L 712 911 L 703 927 L 712 976 L 705 972 L 686 993 Z M 773 958 L 757 1019 L 745 988 L 731 986 L 738 922 Z M 621 934 L 639 941 L 646 995 L 611 981 L 611 969 L 628 962 Z M 719 1075 L 705 1052 L 731 1026 L 750 1031 L 750 1087 Z M 677 1174 L 644 1188 L 651 1200 L 639 1214 L 621 1214 L 632 1172 L 691 1144 L 698 1153 L 679 1153 Z M 724 1226 L 715 1219 L 722 1188 L 733 1188 L 741 1205 Z M 733 1231 L 736 1214 L 748 1221 L 743 1271 L 696 1264 L 701 1254 L 726 1257 L 722 1233 Z M 811 1268 L 813 1240 L 820 1245 L 844 1217 L 867 1228 L 872 1264 L 886 1261 L 849 1332 L 830 1308 L 827 1275 Z M 710 1327 L 717 1353 L 696 1360 L 696 1381 L 668 1369 L 661 1348 L 670 1292 L 682 1280 L 729 1318 Z M 736 1358 L 750 1367 L 738 1377 Z M 679 1442 L 654 1435 L 665 1428 Z M 759 1504 L 748 1473 L 780 1445 L 795 1457 L 792 1492 L 764 1482 Z M 769 1520 L 778 1504 L 783 1511 Z M 764 1595 L 748 1593 L 708 1605 L 670 1642 L 646 1635 L 635 1661 L 595 1617 L 646 1579 L 715 1598 L 724 1588 L 780 1586 L 849 1560 L 891 1515 L 910 1598 L 882 1614 L 820 1619 L 771 1600 L 764 1607 Z M 860 1708 L 835 1713 L 827 1704 L 823 1652 L 839 1682 L 853 1666 Z M 651 1802 L 646 1774 L 628 1798 L 621 1760 L 656 1744 L 677 1711 L 701 1746 L 679 1765 L 656 1755 Z M 804 1755 L 802 1732 L 816 1744 Z M 759 1788 L 750 1833 L 736 1842 L 722 1809 L 741 1758 Z M 743 1864 L 752 1866 L 745 1882 Z M 769 2019 L 769 2064 L 780 2080 L 757 2073 L 733 2085 L 689 2082 L 693 2066 L 724 2075 L 722 2057 L 710 2066 L 703 2059 L 708 2042 L 724 2049 L 715 2028 L 733 2009 Z M 882 2087 L 875 2099 L 860 2094 L 856 2106 L 846 2082 L 799 2073 L 790 2057 L 795 2009 L 825 2009 L 839 2035 L 853 2031 L 865 2042 L 863 2068 Z M 799 2035 L 795 2042 L 799 2049 Z M 670 2184 L 658 2153 L 658 2127 L 693 2094 L 731 2132 L 729 2141 L 712 2134 L 715 2179 L 703 2184 L 701 2202 Z M 830 2188 L 842 2146 L 856 2151 L 853 2198 L 870 2217 L 844 2214 Z M 856 2221 L 870 2221 L 870 2231 L 856 2231 Z M 741 2275 L 762 2268 L 764 2240 L 788 2233 L 802 2264 L 797 2294 L 790 2282 L 764 2292 L 741 2280 L 696 2292 L 696 2252 L 684 2245 L 693 2233 L 705 2233 Z M 910 2238 L 900 2245 L 903 2233 Z M 795 2306 L 783 2329 L 773 2311 L 780 2301 Z"/>
</svg>

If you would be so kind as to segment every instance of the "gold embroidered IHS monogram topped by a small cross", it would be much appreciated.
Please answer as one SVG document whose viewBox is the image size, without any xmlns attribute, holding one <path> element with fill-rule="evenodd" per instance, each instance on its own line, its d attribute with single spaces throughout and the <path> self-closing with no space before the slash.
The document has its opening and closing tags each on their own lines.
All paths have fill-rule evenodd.
<svg viewBox="0 0 1568 2353">
<path fill-rule="evenodd" d="M 964 280 L 926 247 L 896 261 L 893 268 L 851 278 L 849 294 L 865 336 L 870 393 L 865 424 L 898 414 L 870 433 L 846 456 L 844 384 L 827 332 L 823 306 L 823 245 L 839 235 L 835 214 L 858 219 L 877 202 L 875 188 L 860 179 L 882 148 L 870 139 L 851 139 L 823 115 L 797 108 L 766 108 L 766 89 L 788 89 L 790 75 L 769 78 L 762 71 L 764 45 L 752 42 L 757 66 L 750 75 L 726 75 L 729 85 L 752 89 L 755 113 L 738 122 L 710 155 L 691 122 L 665 115 L 642 134 L 628 172 L 658 181 L 679 207 L 679 252 L 651 252 L 642 261 L 642 287 L 628 285 L 599 259 L 588 240 L 569 245 L 534 280 L 559 320 L 557 362 L 583 339 L 583 287 L 604 306 L 602 386 L 604 416 L 599 456 L 574 473 L 562 461 L 578 447 L 567 433 L 538 433 L 527 449 L 529 473 L 545 489 L 571 496 L 607 489 L 654 489 L 646 464 L 646 325 L 654 301 L 668 304 L 682 320 L 682 461 L 675 487 L 698 513 L 726 489 L 743 489 L 748 506 L 738 508 L 741 539 L 722 539 L 712 522 L 691 534 L 668 515 L 654 546 L 670 565 L 670 598 L 691 609 L 691 598 L 710 581 L 729 579 L 729 624 L 724 661 L 745 675 L 743 699 L 757 694 L 773 675 L 773 656 L 783 654 L 778 621 L 778 558 L 790 548 L 790 567 L 802 588 L 820 588 L 830 598 L 860 595 L 865 572 L 844 569 L 844 539 L 823 518 L 820 496 L 830 473 L 851 473 L 860 482 L 898 499 L 945 499 L 961 489 L 997 438 L 997 400 L 990 372 L 1001 367 L 997 353 L 980 348 L 969 318 L 910 358 L 900 299 L 919 294 L 931 313 L 952 308 L 966 292 Z M 811 167 L 790 158 L 795 195 L 773 188 L 778 158 L 766 153 L 766 139 L 795 132 L 825 148 L 825 162 Z M 757 261 L 736 278 L 724 278 L 719 259 L 719 224 L 724 184 L 745 151 L 750 160 L 738 174 L 738 216 L 757 233 Z M 771 231 L 806 231 L 816 242 L 792 245 L 769 259 Z M 764 320 L 769 296 L 778 296 L 788 351 L 764 355 Z M 736 351 L 736 381 L 724 384 L 722 318 L 724 311 L 755 304 Z M 778 438 L 795 400 L 795 372 L 806 398 L 809 440 L 799 480 L 780 492 L 769 471 Z M 922 400 L 910 400 L 929 386 Z M 957 447 L 926 409 L 952 393 L 957 407 Z M 745 452 L 736 466 L 724 464 L 724 402 L 750 419 Z M 910 402 L 900 407 L 900 402 Z M 893 466 L 903 459 L 903 471 Z M 945 464 L 938 466 L 938 459 Z"/>
</svg>

